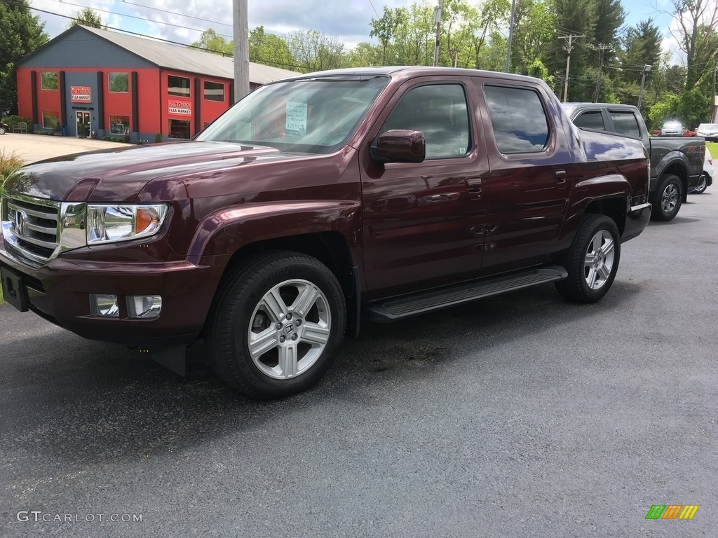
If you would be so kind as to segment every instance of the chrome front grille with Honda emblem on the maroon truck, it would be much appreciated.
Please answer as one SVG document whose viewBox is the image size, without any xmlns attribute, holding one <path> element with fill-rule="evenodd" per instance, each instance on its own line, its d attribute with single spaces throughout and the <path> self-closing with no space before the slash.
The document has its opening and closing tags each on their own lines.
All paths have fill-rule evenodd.
<svg viewBox="0 0 718 538">
<path fill-rule="evenodd" d="M 3 205 L 3 227 L 9 228 L 11 249 L 30 260 L 49 260 L 59 242 L 60 204 L 9 194 Z"/>
</svg>

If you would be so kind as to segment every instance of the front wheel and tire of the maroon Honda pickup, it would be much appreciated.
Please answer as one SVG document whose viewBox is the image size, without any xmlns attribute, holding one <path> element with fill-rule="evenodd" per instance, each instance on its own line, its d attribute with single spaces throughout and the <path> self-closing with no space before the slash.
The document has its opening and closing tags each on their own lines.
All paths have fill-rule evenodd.
<svg viewBox="0 0 718 538">
<path fill-rule="evenodd" d="M 293 395 L 324 376 L 345 328 L 344 294 L 325 265 L 298 253 L 266 253 L 220 285 L 208 328 L 210 362 L 248 397 Z"/>
</svg>

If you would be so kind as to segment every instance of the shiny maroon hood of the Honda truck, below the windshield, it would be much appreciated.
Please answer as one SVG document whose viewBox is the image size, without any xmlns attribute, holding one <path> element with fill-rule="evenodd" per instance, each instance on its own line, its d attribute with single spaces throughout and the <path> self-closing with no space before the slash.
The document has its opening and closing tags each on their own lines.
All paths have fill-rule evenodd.
<svg viewBox="0 0 718 538">
<path fill-rule="evenodd" d="M 297 159 L 302 154 L 229 142 L 174 142 L 92 151 L 23 166 L 6 192 L 62 202 L 131 202 L 152 179 L 187 169 Z"/>
</svg>

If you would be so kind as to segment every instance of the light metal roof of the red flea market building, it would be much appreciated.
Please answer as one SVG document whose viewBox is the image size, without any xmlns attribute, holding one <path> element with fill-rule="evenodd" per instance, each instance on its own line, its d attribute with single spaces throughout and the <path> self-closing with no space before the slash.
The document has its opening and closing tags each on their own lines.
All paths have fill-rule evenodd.
<svg viewBox="0 0 718 538">
<path fill-rule="evenodd" d="M 135 37 L 121 34 L 120 32 L 90 28 L 80 24 L 78 26 L 132 52 L 136 56 L 144 58 L 148 62 L 154 63 L 158 67 L 234 80 L 234 61 L 230 57 L 155 41 L 148 37 Z M 266 84 L 273 80 L 296 77 L 297 74 L 296 71 L 249 62 L 249 81 L 256 84 Z"/>
</svg>

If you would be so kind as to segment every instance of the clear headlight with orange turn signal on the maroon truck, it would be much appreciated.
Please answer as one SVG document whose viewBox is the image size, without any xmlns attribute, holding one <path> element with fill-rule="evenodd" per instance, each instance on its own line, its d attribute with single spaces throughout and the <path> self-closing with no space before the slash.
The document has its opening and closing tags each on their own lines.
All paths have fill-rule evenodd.
<svg viewBox="0 0 718 538">
<path fill-rule="evenodd" d="M 157 205 L 88 204 L 88 245 L 149 237 L 157 233 L 168 207 Z"/>
</svg>

